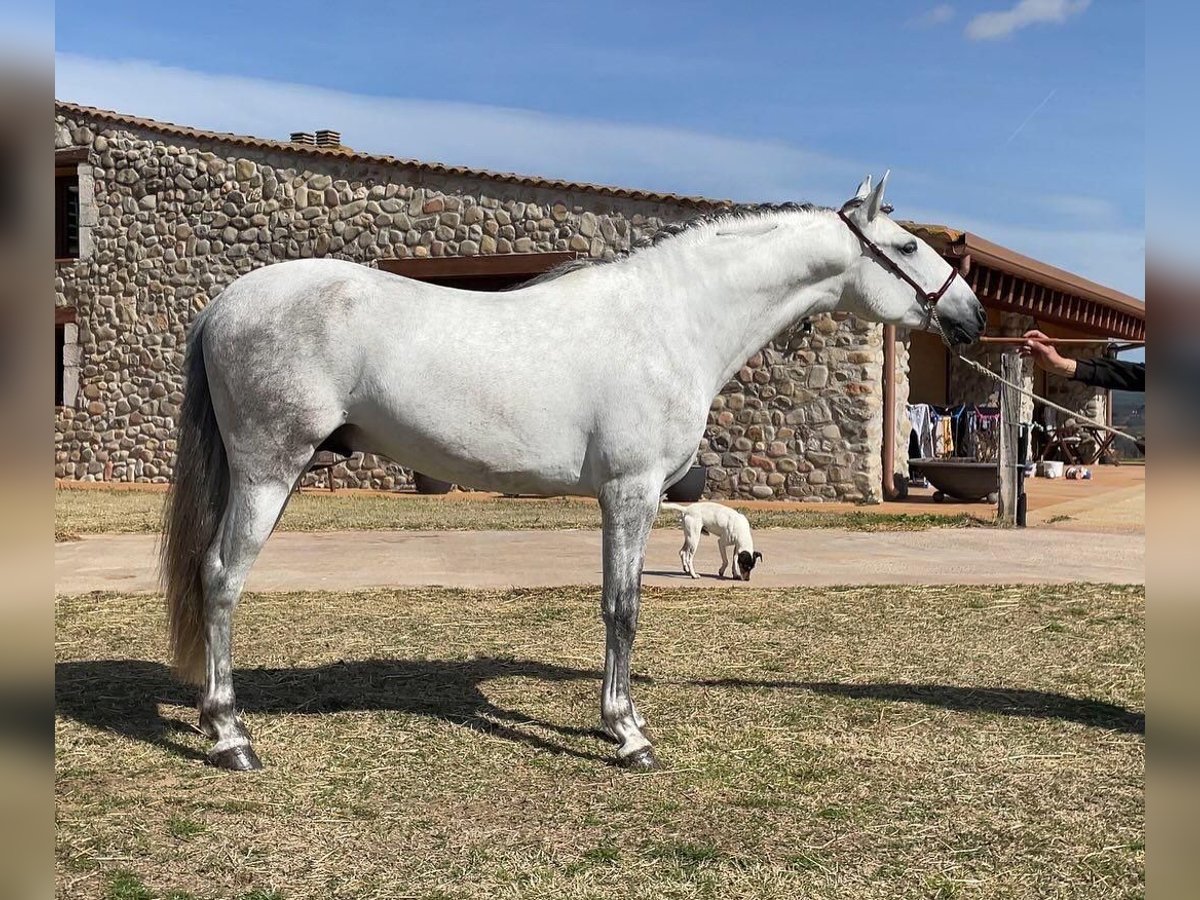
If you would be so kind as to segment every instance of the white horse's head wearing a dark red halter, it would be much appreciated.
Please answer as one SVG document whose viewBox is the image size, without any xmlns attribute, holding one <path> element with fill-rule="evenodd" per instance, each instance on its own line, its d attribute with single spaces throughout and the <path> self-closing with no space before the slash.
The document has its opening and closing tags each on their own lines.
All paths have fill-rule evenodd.
<svg viewBox="0 0 1200 900">
<path fill-rule="evenodd" d="M 888 175 L 858 186 L 838 215 L 860 254 L 842 293 L 842 308 L 889 325 L 938 329 L 949 343 L 972 343 L 986 325 L 974 292 L 941 254 L 893 222 L 883 203 Z"/>
</svg>

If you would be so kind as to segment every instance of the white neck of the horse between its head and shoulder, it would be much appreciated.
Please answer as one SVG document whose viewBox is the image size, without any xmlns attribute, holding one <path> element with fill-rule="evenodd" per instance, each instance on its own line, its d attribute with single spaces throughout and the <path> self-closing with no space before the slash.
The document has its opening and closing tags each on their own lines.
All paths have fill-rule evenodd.
<svg viewBox="0 0 1200 900">
<path fill-rule="evenodd" d="M 841 296 L 853 259 L 845 227 L 832 214 L 815 214 L 799 226 L 800 241 L 784 227 L 797 226 L 714 235 L 655 260 L 683 310 L 680 338 L 694 342 L 713 394 L 773 337 L 806 316 L 834 310 Z"/>
</svg>

